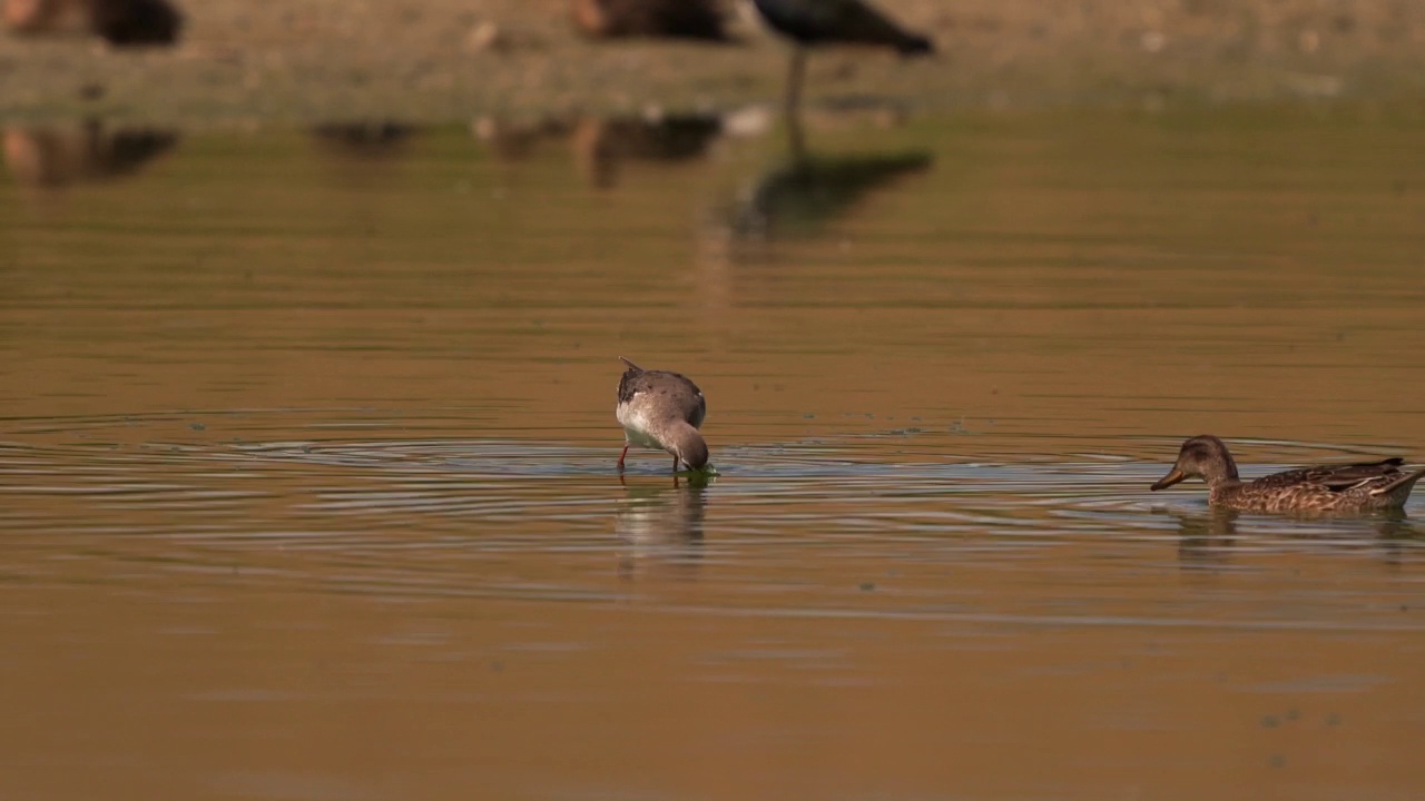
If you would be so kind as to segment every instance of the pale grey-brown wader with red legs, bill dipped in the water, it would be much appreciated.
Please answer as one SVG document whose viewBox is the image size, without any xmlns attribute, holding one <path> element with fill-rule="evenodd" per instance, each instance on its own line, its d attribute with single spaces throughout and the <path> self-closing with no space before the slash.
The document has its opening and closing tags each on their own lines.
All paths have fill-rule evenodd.
<svg viewBox="0 0 1425 801">
<path fill-rule="evenodd" d="M 698 385 L 687 376 L 668 371 L 646 371 L 618 356 L 628 365 L 618 379 L 618 406 L 614 415 L 624 428 L 624 449 L 618 455 L 618 470 L 630 445 L 640 445 L 673 455 L 673 472 L 678 463 L 694 470 L 708 463 L 708 446 L 698 433 L 708 403 Z"/>
</svg>

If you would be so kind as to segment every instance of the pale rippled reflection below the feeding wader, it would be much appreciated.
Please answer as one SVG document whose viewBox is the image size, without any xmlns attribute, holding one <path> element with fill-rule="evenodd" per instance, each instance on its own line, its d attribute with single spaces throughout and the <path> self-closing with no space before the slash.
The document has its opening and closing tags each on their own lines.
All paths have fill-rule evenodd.
<svg viewBox="0 0 1425 801">
<path fill-rule="evenodd" d="M 614 533 L 623 543 L 618 573 L 667 573 L 690 579 L 703 559 L 703 517 L 707 479 L 674 479 L 671 486 L 624 485 L 614 513 Z"/>
</svg>

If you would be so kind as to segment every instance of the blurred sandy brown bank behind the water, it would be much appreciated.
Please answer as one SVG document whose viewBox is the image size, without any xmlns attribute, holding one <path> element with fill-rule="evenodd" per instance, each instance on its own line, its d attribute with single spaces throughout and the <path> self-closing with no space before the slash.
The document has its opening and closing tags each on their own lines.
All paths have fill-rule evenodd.
<svg viewBox="0 0 1425 801">
<path fill-rule="evenodd" d="M 1317 100 L 1419 110 L 1414 0 L 884 0 L 933 60 L 832 50 L 812 105 L 1174 105 Z M 774 100 L 785 46 L 731 13 L 734 43 L 590 41 L 564 0 L 182 4 L 175 47 L 0 34 L 0 117 L 185 124 L 735 108 Z"/>
</svg>

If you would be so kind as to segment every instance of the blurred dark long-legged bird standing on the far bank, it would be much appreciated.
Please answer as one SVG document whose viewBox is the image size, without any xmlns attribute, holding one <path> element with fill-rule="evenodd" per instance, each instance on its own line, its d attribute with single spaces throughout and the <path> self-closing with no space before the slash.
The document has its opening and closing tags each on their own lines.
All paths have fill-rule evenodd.
<svg viewBox="0 0 1425 801">
<path fill-rule="evenodd" d="M 797 43 L 787 74 L 787 111 L 801 100 L 807 48 L 821 44 L 889 47 L 902 56 L 935 53 L 925 36 L 911 33 L 864 0 L 752 0 L 777 33 Z"/>
</svg>

